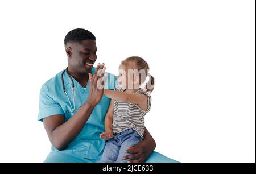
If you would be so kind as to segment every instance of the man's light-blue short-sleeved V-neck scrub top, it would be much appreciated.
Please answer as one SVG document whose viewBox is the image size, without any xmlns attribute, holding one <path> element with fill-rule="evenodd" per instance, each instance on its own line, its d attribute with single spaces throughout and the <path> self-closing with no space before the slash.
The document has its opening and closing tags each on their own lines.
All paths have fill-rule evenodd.
<svg viewBox="0 0 256 174">
<path fill-rule="evenodd" d="M 92 74 L 94 71 L 95 68 L 93 67 Z M 39 121 L 43 121 L 44 118 L 56 114 L 64 115 L 65 121 L 68 121 L 68 119 L 76 113 L 67 113 L 67 111 L 71 111 L 71 106 L 69 105 L 68 98 L 63 90 L 61 82 L 62 72 L 63 71 L 59 72 L 55 77 L 42 85 L 40 90 Z M 67 72 L 64 73 L 63 79 L 65 89 L 73 107 L 72 82 L 68 77 Z M 75 85 L 75 110 L 78 110 L 79 107 L 88 99 L 89 81 L 86 89 L 84 89 L 79 82 L 75 80 L 75 78 L 73 78 L 73 82 Z M 108 80 L 106 81 L 104 88 L 114 90 L 116 83 L 117 77 L 108 73 Z M 86 159 L 100 160 L 104 150 L 105 141 L 100 139 L 99 135 L 105 130 L 104 118 L 108 111 L 109 103 L 110 98 L 103 96 L 101 101 L 96 105 L 96 107 L 94 107 L 92 114 L 80 134 L 77 135 L 65 150 L 59 152 L 80 156 Z M 52 152 L 54 151 L 58 150 L 52 146 Z"/>
</svg>

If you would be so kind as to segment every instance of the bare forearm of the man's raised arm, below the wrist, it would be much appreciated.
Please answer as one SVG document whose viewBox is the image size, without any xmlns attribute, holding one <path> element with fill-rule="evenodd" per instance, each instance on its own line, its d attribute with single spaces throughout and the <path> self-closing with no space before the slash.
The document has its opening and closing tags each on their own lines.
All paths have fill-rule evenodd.
<svg viewBox="0 0 256 174">
<path fill-rule="evenodd" d="M 86 101 L 67 122 L 56 127 L 52 131 L 52 145 L 58 150 L 64 150 L 79 135 L 95 106 Z"/>
</svg>

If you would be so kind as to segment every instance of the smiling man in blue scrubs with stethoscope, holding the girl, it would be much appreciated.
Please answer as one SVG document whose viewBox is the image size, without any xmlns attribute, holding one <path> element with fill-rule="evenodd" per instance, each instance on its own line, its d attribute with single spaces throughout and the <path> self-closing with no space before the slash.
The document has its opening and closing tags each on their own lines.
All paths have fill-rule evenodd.
<svg viewBox="0 0 256 174">
<path fill-rule="evenodd" d="M 104 64 L 93 67 L 97 59 L 96 38 L 92 32 L 77 28 L 64 39 L 68 67 L 42 85 L 38 120 L 42 121 L 52 144 L 45 162 L 97 162 L 104 150 L 104 117 L 110 99 L 103 96 L 98 83 L 114 89 L 116 77 L 104 80 Z M 92 81 L 89 76 L 93 75 Z M 98 76 L 97 76 L 98 75 Z M 155 140 L 144 132 L 143 142 L 127 149 L 130 162 L 175 162 L 153 152 Z"/>
</svg>

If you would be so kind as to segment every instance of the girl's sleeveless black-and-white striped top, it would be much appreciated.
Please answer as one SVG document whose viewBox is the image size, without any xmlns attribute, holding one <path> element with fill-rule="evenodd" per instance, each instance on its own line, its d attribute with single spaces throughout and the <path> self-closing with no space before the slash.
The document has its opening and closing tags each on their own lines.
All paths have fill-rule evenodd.
<svg viewBox="0 0 256 174">
<path fill-rule="evenodd" d="M 117 86 L 117 91 L 124 92 L 125 88 Z M 143 89 L 137 90 L 134 94 L 144 94 L 147 96 L 147 110 L 144 111 L 138 104 L 127 103 L 122 101 L 114 101 L 114 116 L 112 129 L 113 133 L 120 133 L 129 128 L 132 128 L 138 132 L 138 134 L 144 139 L 144 116 L 151 107 L 150 93 Z"/>
</svg>

